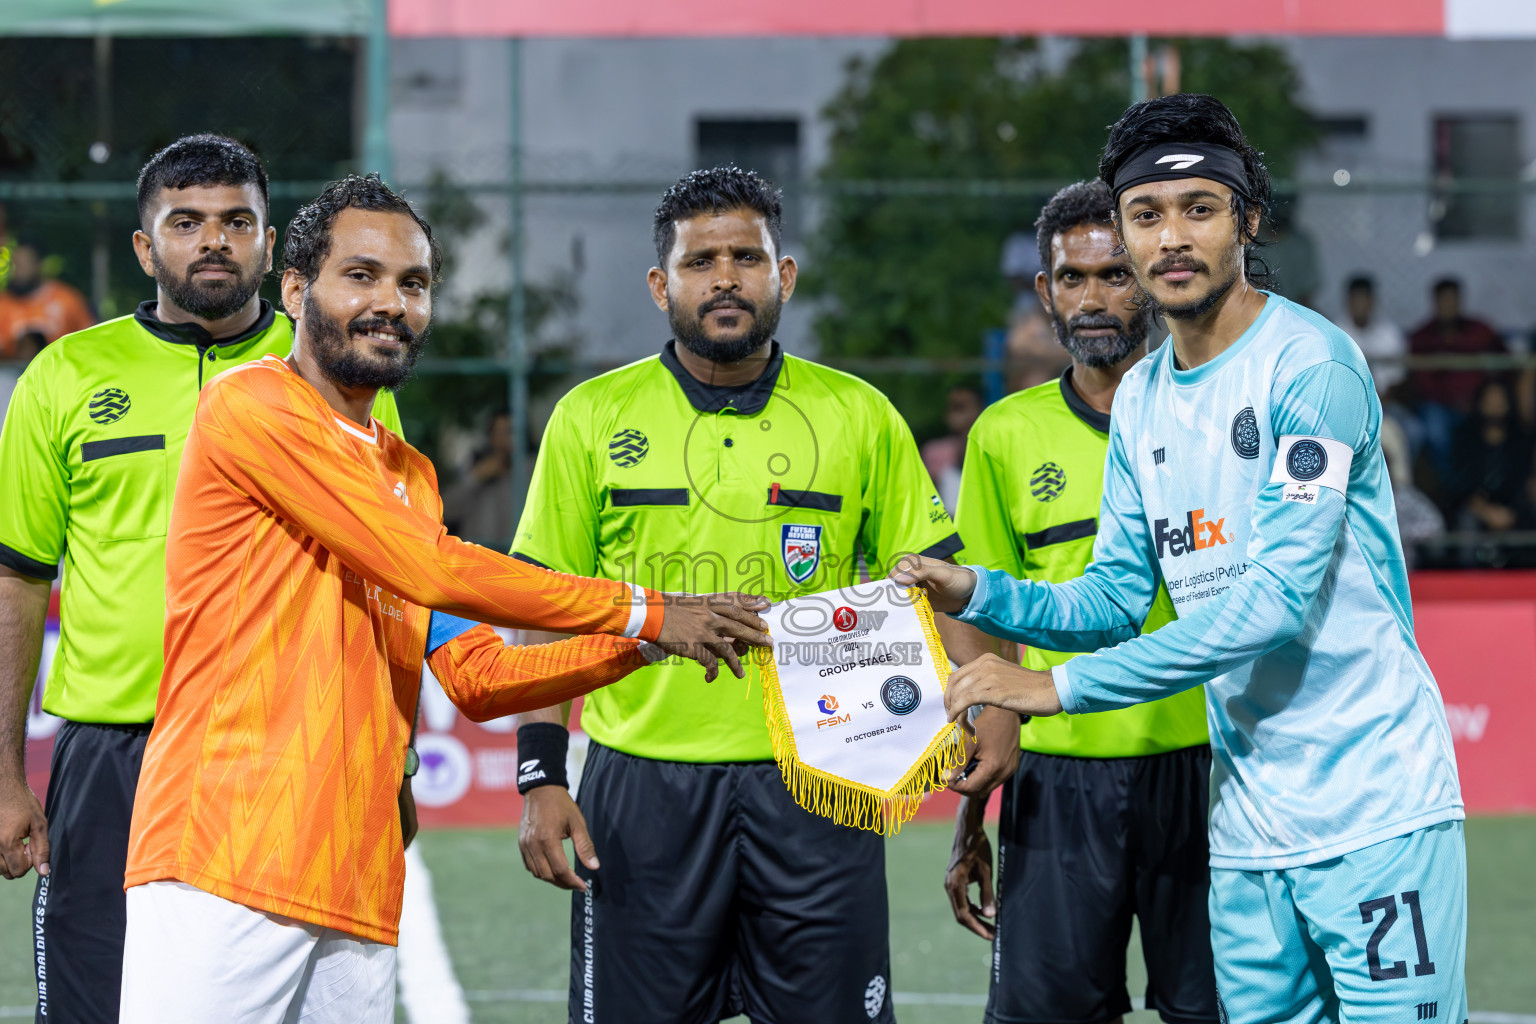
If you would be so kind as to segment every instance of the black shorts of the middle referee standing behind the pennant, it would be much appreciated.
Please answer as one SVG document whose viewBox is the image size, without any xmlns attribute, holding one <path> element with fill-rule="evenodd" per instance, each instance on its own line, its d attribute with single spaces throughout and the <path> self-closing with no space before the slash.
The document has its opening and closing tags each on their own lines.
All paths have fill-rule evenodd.
<svg viewBox="0 0 1536 1024">
<path fill-rule="evenodd" d="M 576 869 L 573 1022 L 894 1024 L 880 835 L 799 808 L 771 761 L 593 743 L 579 803 L 602 866 Z"/>
</svg>

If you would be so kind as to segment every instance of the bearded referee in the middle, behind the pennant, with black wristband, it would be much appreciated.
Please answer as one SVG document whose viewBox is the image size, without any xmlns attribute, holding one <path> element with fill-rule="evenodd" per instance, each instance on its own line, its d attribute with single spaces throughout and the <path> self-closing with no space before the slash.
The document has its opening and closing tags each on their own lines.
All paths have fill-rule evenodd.
<svg viewBox="0 0 1536 1024">
<path fill-rule="evenodd" d="M 889 401 L 773 339 L 796 279 L 779 233 L 756 173 L 667 190 L 648 281 L 673 339 L 556 405 L 513 554 L 782 600 L 960 550 Z M 522 723 L 522 857 L 574 890 L 571 1021 L 895 1019 L 885 843 L 791 800 L 756 665 L 745 692 L 668 659 L 588 697 L 579 809 L 565 711 Z"/>
</svg>

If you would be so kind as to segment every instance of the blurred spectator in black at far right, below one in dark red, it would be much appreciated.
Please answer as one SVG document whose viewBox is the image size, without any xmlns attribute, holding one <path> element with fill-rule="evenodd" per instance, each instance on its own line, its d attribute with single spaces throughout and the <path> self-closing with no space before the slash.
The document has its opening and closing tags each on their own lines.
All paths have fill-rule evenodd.
<svg viewBox="0 0 1536 1024">
<path fill-rule="evenodd" d="M 1525 500 L 1531 453 L 1510 387 L 1485 379 L 1473 396 L 1471 415 L 1456 428 L 1452 468 L 1445 477 L 1452 520 L 1458 530 L 1514 530 Z"/>
</svg>

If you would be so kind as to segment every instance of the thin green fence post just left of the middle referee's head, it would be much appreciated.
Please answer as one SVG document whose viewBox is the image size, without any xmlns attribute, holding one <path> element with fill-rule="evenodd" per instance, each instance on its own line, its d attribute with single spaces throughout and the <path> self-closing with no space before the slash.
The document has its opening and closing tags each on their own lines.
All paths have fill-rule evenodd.
<svg viewBox="0 0 1536 1024">
<path fill-rule="evenodd" d="M 511 531 L 518 531 L 522 504 L 528 493 L 528 321 L 524 295 L 522 223 L 522 40 L 507 40 L 507 91 L 511 114 L 507 120 L 507 261 L 511 290 L 507 293 L 507 416 L 511 419 Z"/>
</svg>

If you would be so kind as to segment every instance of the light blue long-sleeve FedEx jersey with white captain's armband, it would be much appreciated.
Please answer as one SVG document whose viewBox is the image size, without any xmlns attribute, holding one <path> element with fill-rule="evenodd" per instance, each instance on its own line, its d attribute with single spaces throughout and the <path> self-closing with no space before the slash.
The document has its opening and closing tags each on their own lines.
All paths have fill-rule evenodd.
<svg viewBox="0 0 1536 1024">
<path fill-rule="evenodd" d="M 1206 683 L 1210 864 L 1315 864 L 1464 817 L 1359 348 L 1269 295 L 1193 370 L 1174 345 L 1115 393 L 1094 563 L 1068 583 L 972 567 L 958 616 L 1094 651 L 1054 671 L 1069 712 Z M 1140 625 L 1158 580 L 1178 620 Z"/>
</svg>

